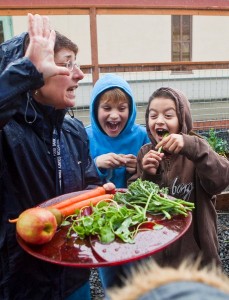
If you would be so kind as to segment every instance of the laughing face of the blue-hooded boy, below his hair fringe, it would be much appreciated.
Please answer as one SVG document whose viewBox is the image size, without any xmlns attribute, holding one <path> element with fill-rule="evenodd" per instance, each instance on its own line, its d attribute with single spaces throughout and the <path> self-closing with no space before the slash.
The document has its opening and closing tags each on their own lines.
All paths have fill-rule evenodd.
<svg viewBox="0 0 229 300">
<path fill-rule="evenodd" d="M 119 103 L 100 100 L 98 106 L 98 122 L 108 136 L 118 136 L 125 127 L 128 117 L 128 100 L 123 100 Z"/>
</svg>

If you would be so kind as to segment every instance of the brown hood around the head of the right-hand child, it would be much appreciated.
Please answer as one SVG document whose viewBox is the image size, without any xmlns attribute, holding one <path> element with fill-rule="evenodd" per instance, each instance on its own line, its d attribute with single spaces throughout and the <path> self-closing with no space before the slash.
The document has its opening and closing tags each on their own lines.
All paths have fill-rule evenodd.
<svg viewBox="0 0 229 300">
<path fill-rule="evenodd" d="M 192 115 L 191 115 L 191 110 L 190 110 L 190 102 L 188 101 L 187 97 L 179 90 L 169 88 L 169 87 L 161 87 L 157 91 L 165 91 L 168 94 L 171 95 L 171 97 L 174 99 L 175 104 L 176 104 L 176 111 L 177 111 L 177 116 L 180 124 L 180 132 L 184 134 L 188 134 L 193 127 L 192 123 Z M 155 145 L 156 141 L 154 140 L 153 136 L 150 133 L 149 126 L 148 126 L 148 118 L 149 118 L 149 106 L 151 101 L 153 99 L 149 100 L 147 109 L 146 109 L 146 114 L 145 114 L 145 121 L 146 121 L 146 130 L 148 133 L 148 136 L 151 140 L 151 142 Z"/>
</svg>

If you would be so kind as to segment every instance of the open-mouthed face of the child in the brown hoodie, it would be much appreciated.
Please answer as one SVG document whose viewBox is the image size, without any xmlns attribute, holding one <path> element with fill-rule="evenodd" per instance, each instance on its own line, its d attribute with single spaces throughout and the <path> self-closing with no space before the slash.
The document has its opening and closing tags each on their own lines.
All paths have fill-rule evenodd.
<svg viewBox="0 0 229 300">
<path fill-rule="evenodd" d="M 164 97 L 154 98 L 149 106 L 148 125 L 157 143 L 162 140 L 165 133 L 179 133 L 175 102 Z"/>
</svg>

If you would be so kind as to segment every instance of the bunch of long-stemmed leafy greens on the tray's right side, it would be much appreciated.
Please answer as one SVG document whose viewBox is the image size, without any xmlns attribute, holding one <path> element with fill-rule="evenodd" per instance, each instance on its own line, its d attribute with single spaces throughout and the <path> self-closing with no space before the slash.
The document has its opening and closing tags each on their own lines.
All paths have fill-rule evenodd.
<svg viewBox="0 0 229 300">
<path fill-rule="evenodd" d="M 171 219 L 173 214 L 188 215 L 188 211 L 194 209 L 194 203 L 177 198 L 168 197 L 168 189 L 162 188 L 150 181 L 137 179 L 131 183 L 126 193 L 116 193 L 114 200 L 126 205 L 138 205 L 144 207 L 151 214 L 164 214 Z"/>
</svg>

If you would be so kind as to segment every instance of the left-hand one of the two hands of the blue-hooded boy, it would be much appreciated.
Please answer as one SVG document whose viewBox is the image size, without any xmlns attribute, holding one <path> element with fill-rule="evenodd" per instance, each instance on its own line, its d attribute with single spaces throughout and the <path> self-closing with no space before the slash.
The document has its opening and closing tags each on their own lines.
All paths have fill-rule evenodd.
<svg viewBox="0 0 229 300">
<path fill-rule="evenodd" d="M 115 153 L 102 154 L 96 158 L 96 166 L 102 169 L 115 169 L 126 165 L 126 158 Z"/>
</svg>

